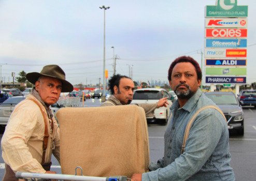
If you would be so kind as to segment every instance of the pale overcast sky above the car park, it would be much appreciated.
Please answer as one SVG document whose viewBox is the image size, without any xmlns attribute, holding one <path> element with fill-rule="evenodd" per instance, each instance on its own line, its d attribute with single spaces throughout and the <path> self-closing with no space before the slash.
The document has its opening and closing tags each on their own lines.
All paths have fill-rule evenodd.
<svg viewBox="0 0 256 181">
<path fill-rule="evenodd" d="M 228 1 L 228 0 L 226 0 Z M 0 64 L 2 80 L 11 72 L 40 72 L 59 65 L 72 84 L 103 83 L 104 10 L 106 69 L 134 81 L 167 81 L 172 61 L 189 55 L 201 65 L 204 52 L 205 6 L 215 0 L 1 0 Z M 256 1 L 248 5 L 247 83 L 256 82 Z M 112 49 L 111 47 L 115 47 Z M 7 64 L 7 65 L 5 65 Z"/>
</svg>

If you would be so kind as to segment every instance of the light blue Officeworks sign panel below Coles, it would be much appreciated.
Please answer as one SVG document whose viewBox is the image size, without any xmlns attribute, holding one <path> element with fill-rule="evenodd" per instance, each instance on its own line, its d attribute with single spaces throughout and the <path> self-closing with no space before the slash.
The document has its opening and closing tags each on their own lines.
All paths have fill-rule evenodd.
<svg viewBox="0 0 256 181">
<path fill-rule="evenodd" d="M 246 48 L 247 39 L 205 39 L 207 48 Z"/>
</svg>

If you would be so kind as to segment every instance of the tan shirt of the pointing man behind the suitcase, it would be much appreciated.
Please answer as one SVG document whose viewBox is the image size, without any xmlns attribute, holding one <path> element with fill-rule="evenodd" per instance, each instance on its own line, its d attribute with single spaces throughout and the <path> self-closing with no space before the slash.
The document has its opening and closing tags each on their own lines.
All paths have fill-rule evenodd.
<svg viewBox="0 0 256 181">
<path fill-rule="evenodd" d="M 111 95 L 107 101 L 101 104 L 101 107 L 112 106 L 112 105 L 123 105 L 115 96 Z M 135 104 L 144 109 L 146 117 L 153 117 L 154 110 L 157 109 L 158 103 L 153 104 Z"/>
</svg>

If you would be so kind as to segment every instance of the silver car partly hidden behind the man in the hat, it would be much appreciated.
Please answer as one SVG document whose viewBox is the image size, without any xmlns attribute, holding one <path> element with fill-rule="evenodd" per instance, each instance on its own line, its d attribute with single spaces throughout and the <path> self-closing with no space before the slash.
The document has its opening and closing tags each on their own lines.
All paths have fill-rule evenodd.
<svg viewBox="0 0 256 181">
<path fill-rule="evenodd" d="M 15 105 L 17 105 L 20 101 L 24 100 L 25 96 L 14 96 L 6 99 L 1 105 L 0 105 L 0 125 L 3 127 L 7 125 L 8 119 L 12 113 L 12 111 L 15 108 Z M 51 110 L 54 114 L 54 117 L 56 119 L 56 112 L 59 111 L 60 108 L 62 108 L 62 105 L 59 105 L 58 103 L 51 105 Z M 56 119 L 57 120 L 57 119 Z"/>
</svg>

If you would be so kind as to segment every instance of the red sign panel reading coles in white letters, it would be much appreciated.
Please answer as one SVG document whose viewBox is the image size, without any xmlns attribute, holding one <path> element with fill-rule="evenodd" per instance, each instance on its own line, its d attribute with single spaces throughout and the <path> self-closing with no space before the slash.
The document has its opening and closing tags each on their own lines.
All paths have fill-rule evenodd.
<svg viewBox="0 0 256 181">
<path fill-rule="evenodd" d="M 206 29 L 205 36 L 211 38 L 246 38 L 247 29 Z"/>
</svg>

